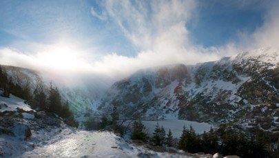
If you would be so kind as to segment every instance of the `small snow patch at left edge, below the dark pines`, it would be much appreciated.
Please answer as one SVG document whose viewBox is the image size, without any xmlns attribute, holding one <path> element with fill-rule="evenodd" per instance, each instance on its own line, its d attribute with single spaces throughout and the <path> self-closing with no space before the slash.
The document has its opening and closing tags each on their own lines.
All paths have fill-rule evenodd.
<svg viewBox="0 0 279 158">
<path fill-rule="evenodd" d="M 10 95 L 9 98 L 0 96 L 0 112 L 3 111 L 17 111 L 17 108 L 21 108 L 25 111 L 31 111 L 30 106 L 24 103 L 23 99 Z"/>
</svg>

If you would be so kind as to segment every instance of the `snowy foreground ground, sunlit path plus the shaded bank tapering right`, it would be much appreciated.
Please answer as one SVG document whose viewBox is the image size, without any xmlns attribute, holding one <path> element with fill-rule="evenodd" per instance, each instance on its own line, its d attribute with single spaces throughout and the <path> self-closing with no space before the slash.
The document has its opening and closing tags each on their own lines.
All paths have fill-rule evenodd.
<svg viewBox="0 0 279 158">
<path fill-rule="evenodd" d="M 58 135 L 57 137 L 61 137 Z M 185 153 L 154 152 L 127 144 L 112 132 L 78 131 L 19 157 L 189 157 Z"/>
</svg>

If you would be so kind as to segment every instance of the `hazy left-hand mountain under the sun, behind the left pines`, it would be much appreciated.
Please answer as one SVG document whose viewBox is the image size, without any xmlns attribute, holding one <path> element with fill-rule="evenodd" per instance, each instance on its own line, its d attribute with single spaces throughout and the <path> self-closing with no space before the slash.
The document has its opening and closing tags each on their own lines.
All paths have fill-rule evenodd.
<svg viewBox="0 0 279 158">
<path fill-rule="evenodd" d="M 94 83 L 89 83 L 89 81 L 87 81 L 87 83 L 79 82 L 74 86 L 67 86 L 56 81 L 55 78 L 52 79 L 47 73 L 38 70 L 14 66 L 3 66 L 3 68 L 5 68 L 8 75 L 12 77 L 14 83 L 23 88 L 29 86 L 31 94 L 39 83 L 43 85 L 45 94 L 48 94 L 48 88 L 50 87 L 50 82 L 52 82 L 52 85 L 59 88 L 63 101 L 69 101 L 71 110 L 76 112 L 76 114 L 94 108 L 96 103 L 94 103 L 93 98 L 99 98 L 96 94 L 101 94 L 100 90 L 95 90 L 96 87 L 94 87 Z"/>
</svg>

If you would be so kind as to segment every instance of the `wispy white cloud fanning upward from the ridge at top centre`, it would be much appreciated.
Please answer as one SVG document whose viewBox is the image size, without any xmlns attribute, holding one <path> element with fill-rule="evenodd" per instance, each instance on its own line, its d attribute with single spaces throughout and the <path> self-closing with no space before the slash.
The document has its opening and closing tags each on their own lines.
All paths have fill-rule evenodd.
<svg viewBox="0 0 279 158">
<path fill-rule="evenodd" d="M 114 53 L 94 63 L 94 70 L 121 79 L 132 72 L 174 63 L 194 64 L 220 58 L 216 48 L 194 46 L 186 22 L 196 1 L 117 1 L 103 4 L 107 15 L 118 24 L 127 39 L 140 50 L 136 57 Z"/>
</svg>

